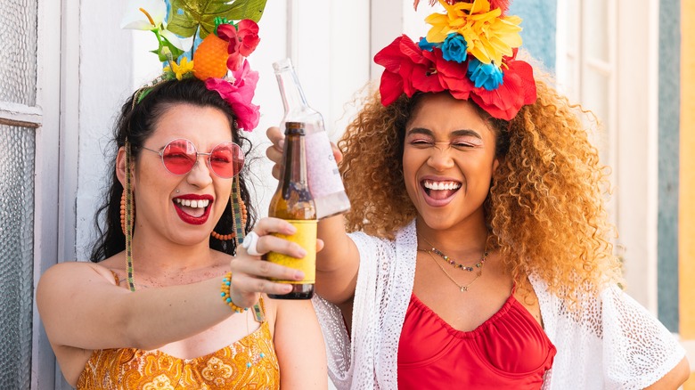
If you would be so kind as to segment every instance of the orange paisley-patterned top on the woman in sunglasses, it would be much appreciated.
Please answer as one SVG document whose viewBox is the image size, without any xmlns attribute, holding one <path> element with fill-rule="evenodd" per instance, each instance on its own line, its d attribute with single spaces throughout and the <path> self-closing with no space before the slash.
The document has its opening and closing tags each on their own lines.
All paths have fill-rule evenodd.
<svg viewBox="0 0 695 390">
<path fill-rule="evenodd" d="M 278 389 L 280 368 L 267 321 L 233 345 L 194 359 L 135 348 L 95 350 L 78 390 Z"/>
</svg>

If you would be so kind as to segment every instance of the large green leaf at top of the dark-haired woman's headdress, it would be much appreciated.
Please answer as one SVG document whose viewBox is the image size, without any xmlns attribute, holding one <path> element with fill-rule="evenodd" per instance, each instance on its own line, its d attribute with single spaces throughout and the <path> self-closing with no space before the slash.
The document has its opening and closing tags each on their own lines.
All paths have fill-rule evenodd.
<svg viewBox="0 0 695 390">
<path fill-rule="evenodd" d="M 267 0 L 171 0 L 171 13 L 167 29 L 180 37 L 208 37 L 215 31 L 215 18 L 227 20 L 250 19 L 263 16 Z"/>
</svg>

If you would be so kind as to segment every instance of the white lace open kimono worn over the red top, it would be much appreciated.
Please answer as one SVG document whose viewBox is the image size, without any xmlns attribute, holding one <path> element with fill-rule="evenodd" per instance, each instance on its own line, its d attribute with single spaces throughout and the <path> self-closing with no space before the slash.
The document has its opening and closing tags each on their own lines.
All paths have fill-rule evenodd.
<svg viewBox="0 0 695 390">
<path fill-rule="evenodd" d="M 396 240 L 350 235 L 360 252 L 352 337 L 339 310 L 314 304 L 328 346 L 329 373 L 338 389 L 397 389 L 398 339 L 413 291 L 415 223 Z M 636 389 L 662 378 L 683 359 L 675 337 L 618 288 L 586 299 L 568 313 L 543 280 L 531 277 L 545 333 L 557 347 L 544 389 Z M 352 342 L 351 342 L 352 341 Z"/>
</svg>

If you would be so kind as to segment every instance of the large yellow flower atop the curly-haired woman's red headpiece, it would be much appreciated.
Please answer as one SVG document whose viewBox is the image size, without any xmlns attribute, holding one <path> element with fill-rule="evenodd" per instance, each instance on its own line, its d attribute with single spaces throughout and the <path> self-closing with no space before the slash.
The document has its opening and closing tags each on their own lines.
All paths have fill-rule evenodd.
<svg viewBox="0 0 695 390">
<path fill-rule="evenodd" d="M 512 49 L 521 45 L 521 18 L 503 16 L 499 8 L 490 10 L 487 0 L 475 0 L 473 3 L 447 4 L 439 0 L 446 10 L 433 13 L 425 21 L 432 25 L 427 33 L 429 43 L 444 42 L 451 33 L 461 34 L 466 39 L 468 53 L 473 54 L 483 63 L 502 64 L 503 56 L 511 56 Z"/>
</svg>

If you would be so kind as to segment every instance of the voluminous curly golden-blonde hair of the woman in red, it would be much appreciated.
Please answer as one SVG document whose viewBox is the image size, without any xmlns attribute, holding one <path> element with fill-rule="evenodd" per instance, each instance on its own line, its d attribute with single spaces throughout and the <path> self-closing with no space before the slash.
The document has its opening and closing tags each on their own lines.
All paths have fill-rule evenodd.
<svg viewBox="0 0 695 390">
<path fill-rule="evenodd" d="M 609 183 L 582 122 L 587 114 L 542 80 L 538 99 L 511 121 L 486 118 L 495 131 L 500 167 L 485 202 L 490 242 L 521 288 L 527 273 L 577 302 L 620 281 L 604 194 Z M 384 107 L 371 93 L 339 141 L 340 171 L 352 209 L 347 230 L 393 239 L 417 211 L 405 191 L 405 126 L 419 96 Z M 368 190 L 367 190 L 368 189 Z"/>
</svg>

